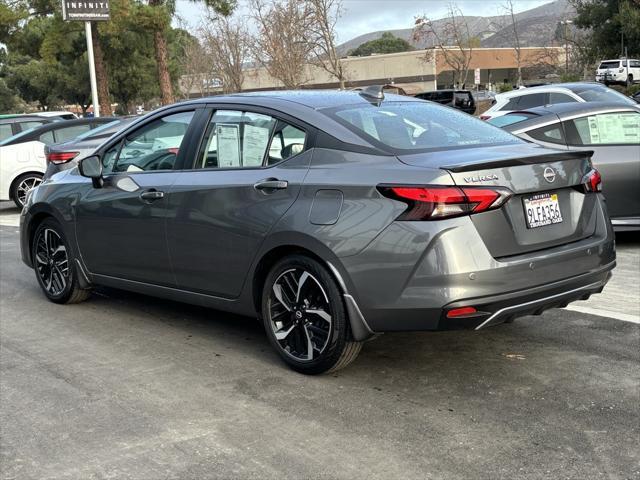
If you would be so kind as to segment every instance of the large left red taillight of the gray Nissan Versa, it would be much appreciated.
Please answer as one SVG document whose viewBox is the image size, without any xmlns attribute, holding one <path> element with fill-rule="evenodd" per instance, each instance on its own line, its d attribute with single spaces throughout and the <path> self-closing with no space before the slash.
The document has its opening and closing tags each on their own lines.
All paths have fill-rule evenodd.
<svg viewBox="0 0 640 480">
<path fill-rule="evenodd" d="M 381 185 L 385 197 L 407 204 L 398 220 L 439 220 L 499 208 L 513 195 L 506 188 Z"/>
</svg>

